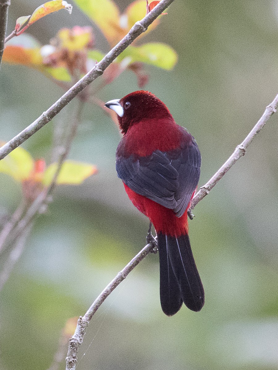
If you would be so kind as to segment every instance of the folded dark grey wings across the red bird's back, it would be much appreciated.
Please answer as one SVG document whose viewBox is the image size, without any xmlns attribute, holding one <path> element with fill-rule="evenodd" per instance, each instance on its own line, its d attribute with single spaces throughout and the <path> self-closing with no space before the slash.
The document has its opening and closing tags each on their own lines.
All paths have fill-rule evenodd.
<svg viewBox="0 0 278 370">
<path fill-rule="evenodd" d="M 120 143 L 116 154 L 119 178 L 136 193 L 173 209 L 178 217 L 185 212 L 198 185 L 200 166 L 201 155 L 193 138 L 179 149 L 156 150 L 138 158 L 121 155 Z"/>
</svg>

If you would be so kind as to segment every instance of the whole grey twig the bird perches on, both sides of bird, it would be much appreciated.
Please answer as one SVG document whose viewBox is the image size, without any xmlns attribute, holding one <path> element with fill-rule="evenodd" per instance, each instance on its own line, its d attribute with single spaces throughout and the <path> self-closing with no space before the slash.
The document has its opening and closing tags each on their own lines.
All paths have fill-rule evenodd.
<svg viewBox="0 0 278 370">
<path fill-rule="evenodd" d="M 250 133 L 247 135 L 247 137 L 242 141 L 240 145 L 238 145 L 234 151 L 234 153 L 231 155 L 231 157 L 224 163 L 224 165 L 216 172 L 214 176 L 204 185 L 201 187 L 201 190 L 194 196 L 191 202 L 191 208 L 195 207 L 201 199 L 204 198 L 205 195 L 208 194 L 209 190 L 212 189 L 215 184 L 224 176 L 224 174 L 229 171 L 231 166 L 240 158 L 242 157 L 245 152 L 248 145 L 252 142 L 255 135 L 264 127 L 265 123 L 269 120 L 271 115 L 276 112 L 278 106 L 278 95 L 276 95 L 275 99 L 272 101 L 271 104 L 267 106 L 265 109 L 264 114 L 259 119 L 258 123 L 254 126 L 254 128 L 250 131 Z M 203 190 L 205 189 L 203 194 Z M 191 215 L 191 213 L 189 213 Z M 129 274 L 130 271 L 135 268 L 139 264 L 139 262 L 142 261 L 143 258 L 145 258 L 148 253 L 150 253 L 154 248 L 153 242 L 147 244 L 139 253 L 136 255 L 129 263 L 126 265 L 126 267 L 118 273 L 118 275 L 115 277 L 115 279 L 112 280 L 112 282 L 107 285 L 107 287 L 100 293 L 100 295 L 97 297 L 95 302 L 92 304 L 92 306 L 87 310 L 85 315 L 82 317 L 79 317 L 79 320 L 77 322 L 76 330 L 72 338 L 69 342 L 69 350 L 67 352 L 66 357 L 66 370 L 75 370 L 76 362 L 77 362 L 77 352 L 79 350 L 80 345 L 83 342 L 86 328 L 89 325 L 90 320 L 93 317 L 93 314 L 96 312 L 96 310 L 100 307 L 100 305 L 103 303 L 103 301 L 109 296 L 109 294 L 115 289 L 116 286 L 119 285 L 119 283 L 126 278 L 126 276 Z"/>
</svg>

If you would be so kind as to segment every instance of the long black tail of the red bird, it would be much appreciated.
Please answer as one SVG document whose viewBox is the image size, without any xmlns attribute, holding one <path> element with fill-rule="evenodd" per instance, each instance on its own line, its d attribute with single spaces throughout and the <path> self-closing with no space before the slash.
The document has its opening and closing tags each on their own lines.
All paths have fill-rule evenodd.
<svg viewBox="0 0 278 370">
<path fill-rule="evenodd" d="M 203 285 L 195 265 L 188 235 L 158 233 L 160 265 L 160 303 L 163 312 L 172 316 L 182 302 L 192 311 L 205 303 Z"/>
</svg>

